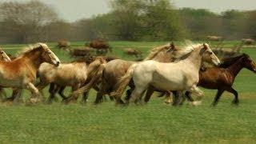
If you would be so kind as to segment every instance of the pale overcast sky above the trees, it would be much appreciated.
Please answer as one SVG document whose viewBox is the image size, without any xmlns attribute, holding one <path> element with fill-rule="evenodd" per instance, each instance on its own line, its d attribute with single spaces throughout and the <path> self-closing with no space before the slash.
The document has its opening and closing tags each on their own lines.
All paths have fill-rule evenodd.
<svg viewBox="0 0 256 144">
<path fill-rule="evenodd" d="M 0 0 L 0 2 L 28 2 L 30 0 Z M 54 6 L 61 18 L 74 22 L 80 18 L 110 11 L 109 0 L 40 0 Z M 171 0 L 174 6 L 209 9 L 220 13 L 224 10 L 256 10 L 256 0 Z"/>
</svg>

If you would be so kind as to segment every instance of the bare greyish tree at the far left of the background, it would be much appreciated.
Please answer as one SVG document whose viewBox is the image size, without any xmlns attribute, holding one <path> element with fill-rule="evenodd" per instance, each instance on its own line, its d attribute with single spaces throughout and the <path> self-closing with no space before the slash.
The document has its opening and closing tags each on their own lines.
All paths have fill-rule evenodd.
<svg viewBox="0 0 256 144">
<path fill-rule="evenodd" d="M 53 8 L 39 1 L 3 2 L 0 14 L 2 34 L 18 43 L 45 39 L 44 27 L 58 19 Z"/>
</svg>

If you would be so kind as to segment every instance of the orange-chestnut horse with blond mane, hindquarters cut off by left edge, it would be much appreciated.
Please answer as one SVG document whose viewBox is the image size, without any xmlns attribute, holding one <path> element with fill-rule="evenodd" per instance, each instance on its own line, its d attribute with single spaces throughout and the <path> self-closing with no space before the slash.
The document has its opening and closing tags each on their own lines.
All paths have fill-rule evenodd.
<svg viewBox="0 0 256 144">
<path fill-rule="evenodd" d="M 42 62 L 58 66 L 58 57 L 44 43 L 38 43 L 11 62 L 0 62 L 0 86 L 30 90 L 30 102 L 38 102 L 39 92 L 34 86 L 36 73 Z"/>
</svg>

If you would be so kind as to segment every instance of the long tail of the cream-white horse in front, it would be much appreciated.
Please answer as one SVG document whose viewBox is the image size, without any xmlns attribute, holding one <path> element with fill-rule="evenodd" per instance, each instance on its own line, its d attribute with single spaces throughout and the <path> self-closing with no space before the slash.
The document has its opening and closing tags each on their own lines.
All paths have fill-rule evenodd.
<svg viewBox="0 0 256 144">
<path fill-rule="evenodd" d="M 138 66 L 138 64 L 136 64 L 136 63 L 134 63 L 132 66 L 130 66 L 130 68 L 127 70 L 126 74 L 124 76 L 122 76 L 122 78 L 119 79 L 119 81 L 116 85 L 116 86 L 118 86 L 118 88 L 116 90 L 114 90 L 114 92 L 112 92 L 110 94 L 110 96 L 112 96 L 113 98 L 122 97 L 122 94 L 126 90 L 126 86 L 128 86 L 128 84 L 130 82 L 130 79 L 133 78 L 133 74 L 134 74 L 134 70 L 135 70 L 136 66 Z"/>
</svg>

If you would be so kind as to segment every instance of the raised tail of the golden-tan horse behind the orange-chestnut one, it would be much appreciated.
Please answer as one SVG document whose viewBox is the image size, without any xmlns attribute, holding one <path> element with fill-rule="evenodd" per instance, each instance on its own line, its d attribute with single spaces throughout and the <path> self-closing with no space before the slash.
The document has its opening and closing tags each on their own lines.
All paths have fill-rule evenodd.
<svg viewBox="0 0 256 144">
<path fill-rule="evenodd" d="M 105 68 L 106 62 L 99 59 L 94 63 L 93 69 L 88 72 L 88 76 L 84 86 L 74 91 L 74 94 L 81 94 L 88 92 L 98 81 L 102 78 L 102 71 Z"/>
</svg>

